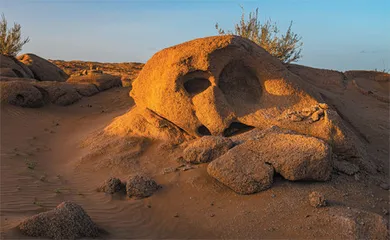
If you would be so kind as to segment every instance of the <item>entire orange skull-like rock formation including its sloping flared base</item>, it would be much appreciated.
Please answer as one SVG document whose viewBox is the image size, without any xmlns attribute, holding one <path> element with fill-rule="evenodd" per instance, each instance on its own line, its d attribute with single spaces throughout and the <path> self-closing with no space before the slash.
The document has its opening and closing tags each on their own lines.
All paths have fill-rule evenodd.
<svg viewBox="0 0 390 240">
<path fill-rule="evenodd" d="M 342 80 L 337 72 L 329 74 L 337 83 Z M 365 155 L 354 134 L 309 84 L 238 36 L 195 39 L 163 49 L 146 63 L 130 94 L 136 107 L 107 127 L 109 134 L 167 139 L 161 130 L 190 138 L 229 137 L 279 126 L 323 139 L 337 153 Z M 140 121 L 129 121 L 134 118 Z M 142 118 L 166 124 L 141 124 Z"/>
</svg>

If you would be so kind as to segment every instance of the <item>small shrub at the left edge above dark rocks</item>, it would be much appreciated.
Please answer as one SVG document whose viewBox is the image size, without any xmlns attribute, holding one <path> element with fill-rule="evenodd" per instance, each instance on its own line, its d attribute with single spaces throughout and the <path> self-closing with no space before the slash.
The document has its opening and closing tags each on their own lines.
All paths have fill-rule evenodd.
<svg viewBox="0 0 390 240">
<path fill-rule="evenodd" d="M 8 29 L 7 20 L 4 14 L 1 14 L 0 21 L 0 53 L 6 56 L 16 56 L 24 44 L 28 43 L 30 39 L 21 39 L 21 26 L 14 23 L 13 28 Z"/>
</svg>

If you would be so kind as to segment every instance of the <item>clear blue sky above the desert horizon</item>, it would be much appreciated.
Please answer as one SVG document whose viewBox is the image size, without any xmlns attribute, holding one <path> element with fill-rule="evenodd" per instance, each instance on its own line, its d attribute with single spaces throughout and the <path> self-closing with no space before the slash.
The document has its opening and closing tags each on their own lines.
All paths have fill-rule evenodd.
<svg viewBox="0 0 390 240">
<path fill-rule="evenodd" d="M 302 36 L 298 64 L 337 69 L 390 69 L 390 0 L 1 0 L 9 23 L 31 41 L 23 52 L 45 58 L 146 62 L 158 50 L 233 29 L 259 8 Z"/>
</svg>

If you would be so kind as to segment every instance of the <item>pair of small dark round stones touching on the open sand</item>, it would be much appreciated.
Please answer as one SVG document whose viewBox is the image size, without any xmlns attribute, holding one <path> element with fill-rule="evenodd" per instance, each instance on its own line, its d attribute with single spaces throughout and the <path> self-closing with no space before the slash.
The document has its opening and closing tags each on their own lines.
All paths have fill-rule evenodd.
<svg viewBox="0 0 390 240">
<path fill-rule="evenodd" d="M 143 175 L 132 175 L 127 181 L 122 182 L 119 178 L 107 179 L 99 190 L 108 193 L 125 193 L 129 198 L 146 198 L 153 195 L 160 185 L 153 179 Z"/>
</svg>

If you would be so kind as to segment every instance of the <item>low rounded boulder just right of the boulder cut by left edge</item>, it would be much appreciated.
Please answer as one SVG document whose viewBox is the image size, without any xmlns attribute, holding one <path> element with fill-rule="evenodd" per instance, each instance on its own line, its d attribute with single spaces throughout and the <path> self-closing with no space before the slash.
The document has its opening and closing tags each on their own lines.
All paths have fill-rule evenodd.
<svg viewBox="0 0 390 240">
<path fill-rule="evenodd" d="M 72 84 L 53 81 L 34 82 L 33 84 L 43 93 L 46 101 L 56 105 L 66 106 L 81 99 L 81 95 Z"/>
</svg>

